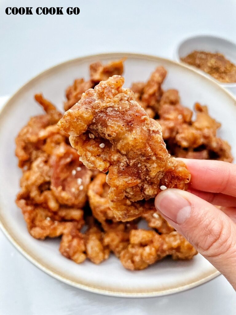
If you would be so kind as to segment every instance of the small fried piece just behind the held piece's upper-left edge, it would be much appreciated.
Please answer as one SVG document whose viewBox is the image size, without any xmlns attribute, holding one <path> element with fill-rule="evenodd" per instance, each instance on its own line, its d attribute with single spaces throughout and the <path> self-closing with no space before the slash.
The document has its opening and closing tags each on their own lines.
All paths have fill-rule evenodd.
<svg viewBox="0 0 236 315">
<path fill-rule="evenodd" d="M 67 101 L 64 102 L 65 111 L 68 111 L 68 109 L 75 105 L 81 99 L 82 94 L 88 89 L 93 88 L 93 86 L 94 84 L 91 80 L 85 81 L 83 78 L 76 79 L 65 91 L 67 98 Z"/>
</svg>

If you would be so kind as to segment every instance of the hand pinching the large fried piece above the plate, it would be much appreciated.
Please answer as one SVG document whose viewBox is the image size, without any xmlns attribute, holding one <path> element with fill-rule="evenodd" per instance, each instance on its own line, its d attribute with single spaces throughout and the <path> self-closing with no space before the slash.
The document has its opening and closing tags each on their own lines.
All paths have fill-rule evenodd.
<svg viewBox="0 0 236 315">
<path fill-rule="evenodd" d="M 155 207 L 236 289 L 236 165 L 181 160 L 192 176 L 188 191 L 160 192 Z"/>
</svg>

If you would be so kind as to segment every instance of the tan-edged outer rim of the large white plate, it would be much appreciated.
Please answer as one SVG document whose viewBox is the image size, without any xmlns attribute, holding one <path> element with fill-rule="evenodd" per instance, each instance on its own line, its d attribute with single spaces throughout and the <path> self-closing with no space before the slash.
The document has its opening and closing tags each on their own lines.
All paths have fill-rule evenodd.
<svg viewBox="0 0 236 315">
<path fill-rule="evenodd" d="M 171 64 L 180 66 L 182 68 L 186 68 L 188 70 L 190 70 L 191 72 L 194 72 L 197 74 L 197 76 L 203 77 L 205 80 L 210 81 L 213 85 L 217 86 L 217 88 L 221 89 L 222 92 L 224 92 L 225 94 L 228 94 L 228 96 L 233 99 L 233 101 L 235 102 L 236 105 L 236 97 L 230 93 L 228 90 L 226 90 L 224 87 L 222 87 L 219 83 L 215 82 L 215 80 L 207 77 L 206 75 L 199 73 L 198 71 L 196 71 L 195 69 L 192 69 L 192 67 L 188 66 L 188 65 L 184 65 L 182 63 L 179 63 L 177 61 L 174 60 L 170 60 L 167 58 L 162 58 L 162 57 L 158 57 L 155 55 L 150 55 L 150 54 L 139 54 L 139 53 L 126 53 L 126 52 L 111 52 L 111 53 L 101 53 L 101 54 L 90 54 L 90 55 L 86 55 L 86 56 L 82 56 L 82 57 L 78 57 L 78 58 L 73 58 L 70 60 L 66 60 L 64 62 L 61 62 L 59 64 L 56 64 L 54 66 L 51 66 L 49 68 L 47 68 L 46 70 L 40 72 L 39 74 L 37 74 L 36 76 L 32 77 L 30 80 L 28 80 L 25 84 L 23 84 L 9 99 L 8 101 L 3 105 L 3 107 L 0 110 L 0 120 L 3 117 L 3 112 L 4 109 L 7 106 L 10 106 L 12 102 L 14 102 L 14 99 L 17 98 L 17 95 L 24 91 L 24 89 L 27 88 L 28 85 L 32 84 L 35 80 L 37 80 L 39 77 L 43 77 L 45 75 L 47 75 L 48 73 L 50 73 L 51 71 L 58 69 L 60 67 L 63 67 L 69 63 L 76 63 L 77 61 L 83 61 L 83 60 L 87 60 L 89 61 L 90 59 L 95 59 L 95 58 L 121 58 L 121 57 L 127 57 L 127 58 L 137 58 L 137 59 L 146 59 L 146 60 L 152 60 L 152 61 L 166 61 L 169 62 Z M 0 208 L 2 209 L 1 206 L 1 200 L 0 200 Z M 52 276 L 53 278 L 56 278 L 62 282 L 64 282 L 65 284 L 69 284 L 73 287 L 79 288 L 79 289 L 83 289 L 85 291 L 89 291 L 92 293 L 98 293 L 98 294 L 103 294 L 103 295 L 110 295 L 110 296 L 116 296 L 116 297 L 154 297 L 154 296 L 163 296 L 163 295 L 169 295 L 169 294 L 173 294 L 173 293 L 177 293 L 177 292 L 182 292 L 185 291 L 187 289 L 191 289 L 194 287 L 197 287 L 201 284 L 204 284 L 214 278 L 216 278 L 217 276 L 219 276 L 221 273 L 219 271 L 217 271 L 216 269 L 212 272 L 209 272 L 208 275 L 206 275 L 205 277 L 201 277 L 196 279 L 195 281 L 191 281 L 190 283 L 186 283 L 183 285 L 177 285 L 177 286 L 173 286 L 172 288 L 163 288 L 163 289 L 151 289 L 151 290 L 143 290 L 142 292 L 140 291 L 129 291 L 126 289 L 106 289 L 104 288 L 104 286 L 102 288 L 98 287 L 98 286 L 94 286 L 94 285 L 88 285 L 88 284 L 83 284 L 82 281 L 79 283 L 79 281 L 73 281 L 71 280 L 69 277 L 67 277 L 66 275 L 62 275 L 57 271 L 53 271 L 53 268 L 50 268 L 48 266 L 45 266 L 45 264 L 43 262 L 41 262 L 40 260 L 38 260 L 37 258 L 34 257 L 34 255 L 32 255 L 26 248 L 24 248 L 24 246 L 20 245 L 20 243 L 17 241 L 17 239 L 12 235 L 11 231 L 8 231 L 7 228 L 7 224 L 6 222 L 4 222 L 4 218 L 0 213 L 0 228 L 3 231 L 3 233 L 5 234 L 5 236 L 8 238 L 8 240 L 14 245 L 14 247 L 27 259 L 29 260 L 32 264 L 34 264 L 35 266 L 37 266 L 39 269 L 41 269 L 43 272 L 47 273 L 48 275 Z"/>
</svg>

